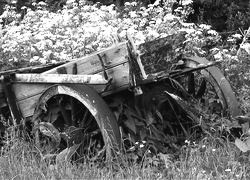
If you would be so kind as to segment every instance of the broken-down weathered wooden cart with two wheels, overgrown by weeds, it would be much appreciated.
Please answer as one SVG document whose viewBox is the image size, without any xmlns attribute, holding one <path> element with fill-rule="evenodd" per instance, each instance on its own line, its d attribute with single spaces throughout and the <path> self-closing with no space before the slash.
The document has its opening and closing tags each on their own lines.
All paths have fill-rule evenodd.
<svg viewBox="0 0 250 180">
<path fill-rule="evenodd" d="M 147 94 L 147 103 L 159 107 L 165 93 L 188 113 L 191 107 L 185 102 L 195 100 L 216 114 L 239 115 L 234 93 L 215 63 L 200 57 L 176 57 L 175 49 L 182 45 L 183 37 L 171 35 L 138 46 L 128 38 L 70 62 L 0 72 L 1 120 L 12 119 L 10 123 L 15 125 L 24 122 L 41 144 L 46 133 L 35 127 L 51 123 L 61 134 L 54 144 L 57 149 L 74 144 L 89 147 L 98 141 L 95 148 L 101 145 L 100 149 L 110 152 L 119 150 L 123 139 L 119 126 L 124 123 L 118 122 L 119 114 L 109 105 L 114 97 Z M 217 105 L 210 108 L 214 103 Z M 154 112 L 168 121 L 164 108 L 169 107 L 165 104 Z M 189 117 L 200 119 L 199 113 L 191 114 Z M 150 123 L 145 126 L 149 128 Z"/>
</svg>

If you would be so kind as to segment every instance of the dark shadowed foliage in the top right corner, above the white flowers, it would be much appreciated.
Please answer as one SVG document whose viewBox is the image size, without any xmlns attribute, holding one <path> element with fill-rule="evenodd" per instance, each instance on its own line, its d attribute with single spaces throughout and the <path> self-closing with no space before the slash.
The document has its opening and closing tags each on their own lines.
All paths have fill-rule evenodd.
<svg viewBox="0 0 250 180">
<path fill-rule="evenodd" d="M 212 25 L 217 31 L 237 31 L 248 28 L 248 0 L 194 0 L 194 12 L 189 21 Z"/>
</svg>

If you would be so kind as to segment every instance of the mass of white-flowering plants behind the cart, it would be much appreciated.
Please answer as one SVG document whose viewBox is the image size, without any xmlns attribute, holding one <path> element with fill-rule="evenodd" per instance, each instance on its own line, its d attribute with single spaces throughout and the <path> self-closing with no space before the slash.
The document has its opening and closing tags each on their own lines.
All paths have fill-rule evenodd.
<svg viewBox="0 0 250 180">
<path fill-rule="evenodd" d="M 28 8 L 23 20 L 9 6 L 0 17 L 5 20 L 0 27 L 2 70 L 85 56 L 115 43 L 116 34 L 125 40 L 129 32 L 138 44 L 179 31 L 196 31 L 185 29 L 185 16 L 173 16 L 170 7 L 157 3 L 148 8 L 125 3 L 119 12 L 114 5 L 85 1 L 67 1 L 56 13 L 48 11 L 43 2 L 33 5 L 36 9 Z"/>
</svg>

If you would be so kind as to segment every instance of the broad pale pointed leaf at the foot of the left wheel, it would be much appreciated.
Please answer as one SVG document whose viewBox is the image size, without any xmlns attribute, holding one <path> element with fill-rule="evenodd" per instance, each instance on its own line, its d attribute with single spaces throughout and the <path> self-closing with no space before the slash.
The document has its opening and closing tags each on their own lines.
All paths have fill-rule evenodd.
<svg viewBox="0 0 250 180">
<path fill-rule="evenodd" d="M 80 147 L 80 144 L 74 144 L 73 146 L 64 149 L 56 156 L 56 163 L 62 163 L 67 162 L 71 159 L 71 157 L 74 155 L 76 150 Z"/>
</svg>

